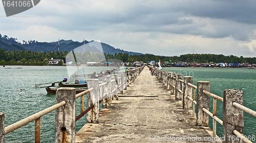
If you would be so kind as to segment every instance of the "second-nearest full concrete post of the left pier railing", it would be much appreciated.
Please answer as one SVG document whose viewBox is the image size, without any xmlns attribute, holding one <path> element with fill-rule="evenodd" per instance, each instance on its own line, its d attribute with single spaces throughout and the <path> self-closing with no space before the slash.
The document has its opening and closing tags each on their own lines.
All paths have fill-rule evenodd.
<svg viewBox="0 0 256 143">
<path fill-rule="evenodd" d="M 88 79 L 87 87 L 94 89 L 87 94 L 87 108 L 94 107 L 86 113 L 86 123 L 99 123 L 99 80 Z"/>
</svg>

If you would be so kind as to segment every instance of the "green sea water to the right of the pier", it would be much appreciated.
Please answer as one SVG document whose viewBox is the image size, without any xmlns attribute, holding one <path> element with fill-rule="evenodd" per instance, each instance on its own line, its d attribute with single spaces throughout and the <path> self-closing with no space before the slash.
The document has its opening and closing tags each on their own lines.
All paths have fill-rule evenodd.
<svg viewBox="0 0 256 143">
<path fill-rule="evenodd" d="M 256 69 L 247 68 L 163 68 L 169 72 L 193 76 L 193 84 L 197 81 L 209 81 L 210 93 L 223 97 L 225 89 L 243 90 L 244 106 L 256 111 Z M 210 97 L 210 112 L 212 112 L 212 97 Z M 217 100 L 217 117 L 223 121 L 223 102 Z M 209 117 L 209 127 L 212 129 L 212 118 Z M 256 135 L 256 118 L 244 112 L 244 131 L 248 136 Z M 223 135 L 223 127 L 217 122 L 217 135 Z"/>
</svg>

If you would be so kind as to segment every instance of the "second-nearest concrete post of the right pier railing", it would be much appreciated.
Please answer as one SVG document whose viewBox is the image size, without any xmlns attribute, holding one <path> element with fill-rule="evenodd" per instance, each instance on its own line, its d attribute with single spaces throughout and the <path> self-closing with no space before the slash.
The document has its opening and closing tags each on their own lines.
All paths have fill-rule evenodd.
<svg viewBox="0 0 256 143">
<path fill-rule="evenodd" d="M 209 81 L 197 81 L 197 118 L 196 126 L 209 126 L 209 115 L 202 109 L 209 110 L 210 97 L 203 91 L 210 92 Z"/>
</svg>

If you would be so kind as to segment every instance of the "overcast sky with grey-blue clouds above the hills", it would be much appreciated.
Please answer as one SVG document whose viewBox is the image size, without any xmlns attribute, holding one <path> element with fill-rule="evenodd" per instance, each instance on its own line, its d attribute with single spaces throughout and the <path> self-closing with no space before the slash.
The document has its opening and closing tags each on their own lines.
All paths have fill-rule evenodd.
<svg viewBox="0 0 256 143">
<path fill-rule="evenodd" d="M 173 56 L 256 56 L 256 1 L 42 0 L 6 17 L 0 34 L 17 41 L 100 40 L 127 51 Z"/>
</svg>

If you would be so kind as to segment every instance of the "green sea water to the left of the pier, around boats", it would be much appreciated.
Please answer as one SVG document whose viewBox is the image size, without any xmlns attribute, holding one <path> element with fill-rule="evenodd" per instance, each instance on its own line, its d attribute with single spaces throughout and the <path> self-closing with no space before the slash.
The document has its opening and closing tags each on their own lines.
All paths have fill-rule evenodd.
<svg viewBox="0 0 256 143">
<path fill-rule="evenodd" d="M 108 67 L 87 67 L 85 71 L 99 73 L 101 70 Z M 1 66 L 0 112 L 5 113 L 5 127 L 54 105 L 55 94 L 47 94 L 45 88 L 34 88 L 35 84 L 62 81 L 65 77 L 68 78 L 65 66 Z M 20 92 L 20 89 L 26 90 Z M 80 98 L 76 99 L 76 116 L 79 113 Z M 54 142 L 54 123 L 55 111 L 41 117 L 41 142 Z M 76 122 L 76 132 L 84 124 L 86 116 Z M 5 142 L 34 142 L 34 126 L 33 121 L 5 135 Z"/>
</svg>

